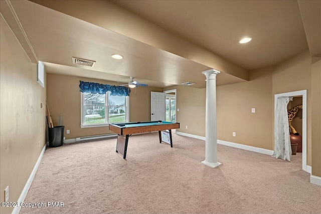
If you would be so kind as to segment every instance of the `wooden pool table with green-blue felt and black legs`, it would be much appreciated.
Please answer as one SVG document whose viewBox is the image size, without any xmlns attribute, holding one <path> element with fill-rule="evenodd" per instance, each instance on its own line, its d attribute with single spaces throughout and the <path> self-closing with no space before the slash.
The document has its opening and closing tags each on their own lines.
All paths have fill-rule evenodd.
<svg viewBox="0 0 321 214">
<path fill-rule="evenodd" d="M 167 121 L 146 121 L 146 122 L 130 122 L 130 123 L 112 123 L 109 124 L 109 130 L 118 134 L 116 152 L 126 158 L 128 138 L 132 134 L 158 131 L 159 143 L 162 143 L 161 131 L 169 130 L 171 147 L 172 142 L 172 129 L 180 128 L 180 123 L 167 122 Z"/>
</svg>

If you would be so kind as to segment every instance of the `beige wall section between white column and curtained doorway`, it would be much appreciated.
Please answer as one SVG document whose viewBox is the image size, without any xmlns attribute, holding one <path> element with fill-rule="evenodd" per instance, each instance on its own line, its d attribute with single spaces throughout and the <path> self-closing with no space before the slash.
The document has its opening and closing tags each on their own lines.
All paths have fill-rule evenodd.
<svg viewBox="0 0 321 214">
<path fill-rule="evenodd" d="M 218 139 L 272 149 L 271 72 L 252 71 L 248 82 L 217 87 Z"/>
</svg>

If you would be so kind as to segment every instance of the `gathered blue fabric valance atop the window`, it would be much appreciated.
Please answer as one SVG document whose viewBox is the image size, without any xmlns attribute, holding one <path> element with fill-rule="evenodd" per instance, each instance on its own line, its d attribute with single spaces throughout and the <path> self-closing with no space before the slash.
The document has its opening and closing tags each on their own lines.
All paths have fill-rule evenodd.
<svg viewBox="0 0 321 214">
<path fill-rule="evenodd" d="M 92 94 L 106 94 L 110 91 L 112 96 L 129 96 L 130 93 L 130 89 L 124 86 L 111 86 L 83 81 L 80 81 L 79 88 L 81 92 Z"/>
</svg>

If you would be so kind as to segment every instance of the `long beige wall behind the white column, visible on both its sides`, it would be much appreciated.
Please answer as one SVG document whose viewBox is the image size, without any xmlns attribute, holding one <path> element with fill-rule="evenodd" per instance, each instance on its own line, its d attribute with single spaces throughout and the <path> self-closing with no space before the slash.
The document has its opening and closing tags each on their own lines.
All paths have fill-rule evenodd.
<svg viewBox="0 0 321 214">
<path fill-rule="evenodd" d="M 250 72 L 249 82 L 217 87 L 218 139 L 272 149 L 271 72 L 271 68 Z M 165 88 L 171 89 L 177 89 L 178 131 L 205 137 L 206 89 Z M 256 113 L 251 113 L 251 108 L 256 108 Z"/>
</svg>

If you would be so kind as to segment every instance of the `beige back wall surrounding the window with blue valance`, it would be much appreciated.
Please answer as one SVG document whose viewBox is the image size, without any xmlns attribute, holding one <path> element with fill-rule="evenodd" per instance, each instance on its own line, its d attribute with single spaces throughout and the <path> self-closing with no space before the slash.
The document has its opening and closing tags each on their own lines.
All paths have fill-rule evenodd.
<svg viewBox="0 0 321 214">
<path fill-rule="evenodd" d="M 63 125 L 65 126 L 64 136 L 66 139 L 113 133 L 109 131 L 108 126 L 94 128 L 80 127 L 80 80 L 109 85 L 118 84 L 106 80 L 47 74 L 47 100 L 54 126 L 58 125 L 58 117 L 63 116 Z M 136 89 L 136 94 L 135 89 L 131 90 L 129 96 L 130 121 L 150 121 L 151 91 L 162 92 L 163 89 L 155 87 L 138 87 Z M 66 134 L 67 129 L 70 130 L 70 134 Z"/>
</svg>

